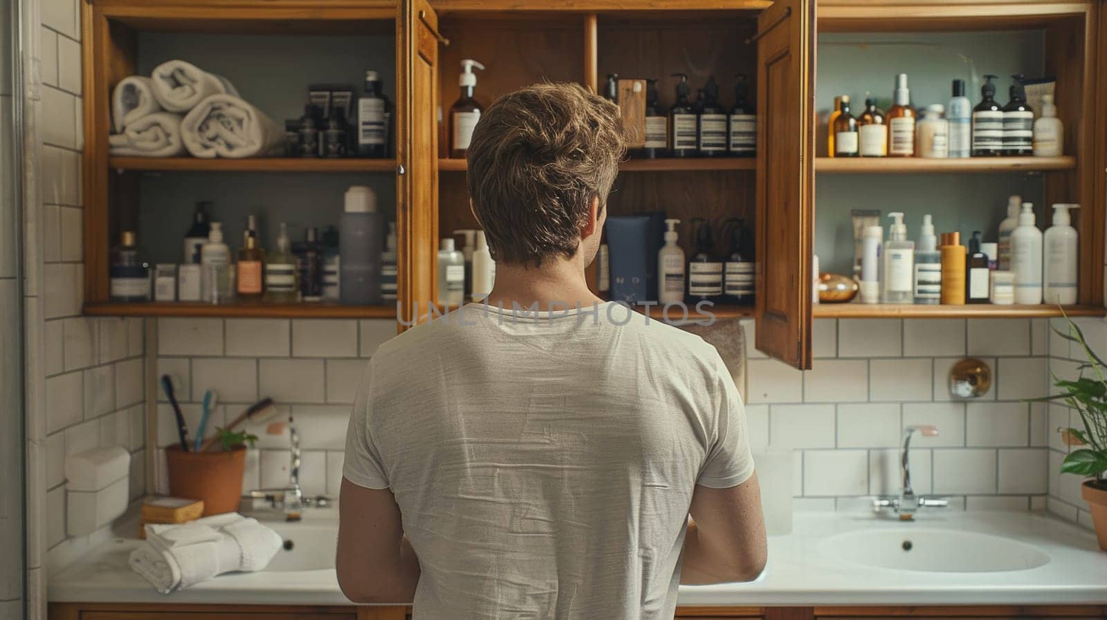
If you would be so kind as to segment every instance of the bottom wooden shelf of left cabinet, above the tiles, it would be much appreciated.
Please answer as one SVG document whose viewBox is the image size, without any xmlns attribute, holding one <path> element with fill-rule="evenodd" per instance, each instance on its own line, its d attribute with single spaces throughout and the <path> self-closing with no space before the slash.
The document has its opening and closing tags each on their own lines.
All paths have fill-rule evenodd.
<svg viewBox="0 0 1107 620">
<path fill-rule="evenodd" d="M 332 303 L 204 304 L 193 302 L 90 303 L 92 316 L 210 316 L 227 318 L 395 318 L 394 305 L 343 306 Z"/>
</svg>

